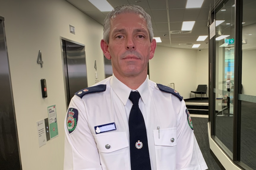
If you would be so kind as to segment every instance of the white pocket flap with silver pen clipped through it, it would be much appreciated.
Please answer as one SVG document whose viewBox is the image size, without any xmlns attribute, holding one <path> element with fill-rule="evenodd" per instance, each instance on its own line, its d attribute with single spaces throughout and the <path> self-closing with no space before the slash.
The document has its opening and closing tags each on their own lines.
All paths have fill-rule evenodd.
<svg viewBox="0 0 256 170">
<path fill-rule="evenodd" d="M 153 130 L 154 135 L 154 142 L 155 145 L 162 145 L 162 146 L 176 146 L 177 145 L 177 128 L 167 128 L 167 129 L 160 129 Z M 160 135 L 160 136 L 159 136 Z"/>
</svg>

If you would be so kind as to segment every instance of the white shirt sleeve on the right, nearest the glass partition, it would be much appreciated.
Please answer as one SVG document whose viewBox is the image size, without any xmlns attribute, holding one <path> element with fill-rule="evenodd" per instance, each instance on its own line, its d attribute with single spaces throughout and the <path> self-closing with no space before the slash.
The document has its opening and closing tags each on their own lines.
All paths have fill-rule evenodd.
<svg viewBox="0 0 256 170">
<path fill-rule="evenodd" d="M 178 101 L 180 102 L 180 101 Z M 179 104 L 177 120 L 177 170 L 205 170 L 208 169 L 199 145 L 194 135 L 192 121 L 184 100 Z"/>
</svg>

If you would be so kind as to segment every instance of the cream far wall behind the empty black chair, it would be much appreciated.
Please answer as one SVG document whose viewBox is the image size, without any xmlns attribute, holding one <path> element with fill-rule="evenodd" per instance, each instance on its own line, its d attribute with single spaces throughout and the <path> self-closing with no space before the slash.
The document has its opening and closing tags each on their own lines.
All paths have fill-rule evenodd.
<svg viewBox="0 0 256 170">
<path fill-rule="evenodd" d="M 190 91 L 197 88 L 196 62 L 196 50 L 157 46 L 149 61 L 150 80 L 163 85 L 175 83 L 175 90 L 189 98 Z"/>
</svg>

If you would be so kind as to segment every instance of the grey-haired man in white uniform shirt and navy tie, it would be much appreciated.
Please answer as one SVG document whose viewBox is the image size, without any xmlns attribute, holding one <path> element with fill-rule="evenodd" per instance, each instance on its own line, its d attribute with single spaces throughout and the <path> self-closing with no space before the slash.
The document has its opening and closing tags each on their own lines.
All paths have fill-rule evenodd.
<svg viewBox="0 0 256 170">
<path fill-rule="evenodd" d="M 182 96 L 147 78 L 156 41 L 150 16 L 122 5 L 104 20 L 102 51 L 113 76 L 72 98 L 65 170 L 204 170 Z"/>
</svg>

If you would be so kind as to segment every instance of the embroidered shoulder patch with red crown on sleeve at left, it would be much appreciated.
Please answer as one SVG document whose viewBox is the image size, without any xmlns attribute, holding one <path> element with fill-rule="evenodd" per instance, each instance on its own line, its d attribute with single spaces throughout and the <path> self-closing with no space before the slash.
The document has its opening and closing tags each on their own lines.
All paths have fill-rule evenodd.
<svg viewBox="0 0 256 170">
<path fill-rule="evenodd" d="M 67 111 L 67 130 L 69 134 L 74 132 L 78 122 L 78 110 L 69 108 Z"/>
</svg>

